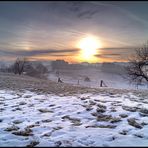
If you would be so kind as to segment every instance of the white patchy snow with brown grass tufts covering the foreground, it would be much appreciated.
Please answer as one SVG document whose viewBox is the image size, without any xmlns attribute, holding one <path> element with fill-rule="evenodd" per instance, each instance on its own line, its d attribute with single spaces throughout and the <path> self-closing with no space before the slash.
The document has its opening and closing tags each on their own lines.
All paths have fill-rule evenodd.
<svg viewBox="0 0 148 148">
<path fill-rule="evenodd" d="M 0 146 L 148 146 L 148 100 L 0 90 Z"/>
</svg>

